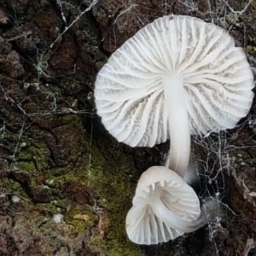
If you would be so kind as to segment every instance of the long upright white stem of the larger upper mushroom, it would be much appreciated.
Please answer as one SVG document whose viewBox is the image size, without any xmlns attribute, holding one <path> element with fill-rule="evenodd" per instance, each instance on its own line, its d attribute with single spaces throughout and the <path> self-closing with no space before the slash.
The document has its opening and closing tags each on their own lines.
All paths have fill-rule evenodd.
<svg viewBox="0 0 256 256">
<path fill-rule="evenodd" d="M 190 129 L 183 79 L 179 75 L 168 74 L 163 77 L 163 84 L 171 140 L 170 161 L 166 166 L 184 177 L 189 163 Z"/>
</svg>

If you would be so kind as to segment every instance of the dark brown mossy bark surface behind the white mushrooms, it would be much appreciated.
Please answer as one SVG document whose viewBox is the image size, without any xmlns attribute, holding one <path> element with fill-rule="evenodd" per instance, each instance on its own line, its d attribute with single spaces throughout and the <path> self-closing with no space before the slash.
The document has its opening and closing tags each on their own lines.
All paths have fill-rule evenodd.
<svg viewBox="0 0 256 256">
<path fill-rule="evenodd" d="M 125 215 L 138 177 L 163 162 L 168 143 L 118 143 L 93 103 L 95 76 L 111 53 L 170 13 L 230 29 L 255 67 L 256 3 L 247 3 L 1 1 L 0 255 L 256 255 L 255 104 L 236 129 L 194 138 L 194 188 L 202 201 L 222 202 L 222 220 L 136 246 L 125 236 Z"/>
</svg>

